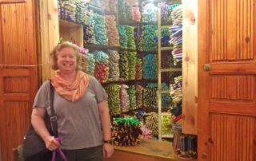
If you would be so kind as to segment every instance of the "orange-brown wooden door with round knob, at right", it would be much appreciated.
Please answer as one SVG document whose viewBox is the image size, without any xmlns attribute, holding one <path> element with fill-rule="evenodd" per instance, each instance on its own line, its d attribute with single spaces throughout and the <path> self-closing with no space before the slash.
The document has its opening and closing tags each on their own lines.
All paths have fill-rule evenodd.
<svg viewBox="0 0 256 161">
<path fill-rule="evenodd" d="M 256 160 L 255 5 L 198 0 L 198 160 Z"/>
</svg>

